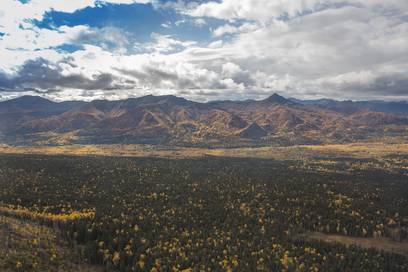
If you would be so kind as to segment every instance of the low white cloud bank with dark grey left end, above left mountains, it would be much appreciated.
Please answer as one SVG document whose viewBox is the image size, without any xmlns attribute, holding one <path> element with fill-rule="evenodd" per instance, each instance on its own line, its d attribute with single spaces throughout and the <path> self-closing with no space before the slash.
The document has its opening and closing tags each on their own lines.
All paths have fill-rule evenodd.
<svg viewBox="0 0 408 272">
<path fill-rule="evenodd" d="M 244 83 L 237 78 L 245 73 L 228 65 L 223 73 L 217 73 L 181 55 L 116 55 L 87 45 L 56 63 L 39 58 L 25 62 L 13 75 L 0 73 L 0 86 L 3 91 L 77 90 L 104 97 L 107 93 L 115 96 L 112 90 L 119 95 L 121 92 L 129 95 L 129 90 L 136 92 L 134 95 L 147 90 L 172 93 L 189 90 L 193 94 L 202 90 L 243 90 Z"/>
</svg>

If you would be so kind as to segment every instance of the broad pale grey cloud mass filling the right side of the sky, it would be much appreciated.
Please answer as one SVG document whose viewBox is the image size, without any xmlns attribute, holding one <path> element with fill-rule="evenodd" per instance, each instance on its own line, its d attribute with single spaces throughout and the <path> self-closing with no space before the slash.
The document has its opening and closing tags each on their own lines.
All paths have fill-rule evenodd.
<svg viewBox="0 0 408 272">
<path fill-rule="evenodd" d="M 252 87 L 260 90 L 406 98 L 402 84 L 408 78 L 407 27 L 404 13 L 385 15 L 382 9 L 346 5 L 272 20 L 240 33 L 213 53 L 251 71 L 256 77 Z"/>
</svg>

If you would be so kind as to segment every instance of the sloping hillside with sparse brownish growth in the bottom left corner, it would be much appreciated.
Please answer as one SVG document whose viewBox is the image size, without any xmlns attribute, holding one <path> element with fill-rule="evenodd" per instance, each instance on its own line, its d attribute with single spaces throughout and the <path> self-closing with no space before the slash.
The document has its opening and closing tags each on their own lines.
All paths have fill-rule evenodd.
<svg viewBox="0 0 408 272">
<path fill-rule="evenodd" d="M 58 231 L 29 220 L 0 214 L 0 241 L 0 271 L 103 271 L 81 261 Z"/>
</svg>

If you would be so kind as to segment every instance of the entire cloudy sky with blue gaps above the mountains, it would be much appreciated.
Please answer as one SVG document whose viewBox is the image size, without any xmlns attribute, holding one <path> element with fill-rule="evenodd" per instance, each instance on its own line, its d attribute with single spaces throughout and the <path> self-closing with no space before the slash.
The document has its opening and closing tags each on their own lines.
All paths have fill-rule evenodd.
<svg viewBox="0 0 408 272">
<path fill-rule="evenodd" d="M 407 0 L 0 0 L 0 100 L 408 100 Z"/>
</svg>

